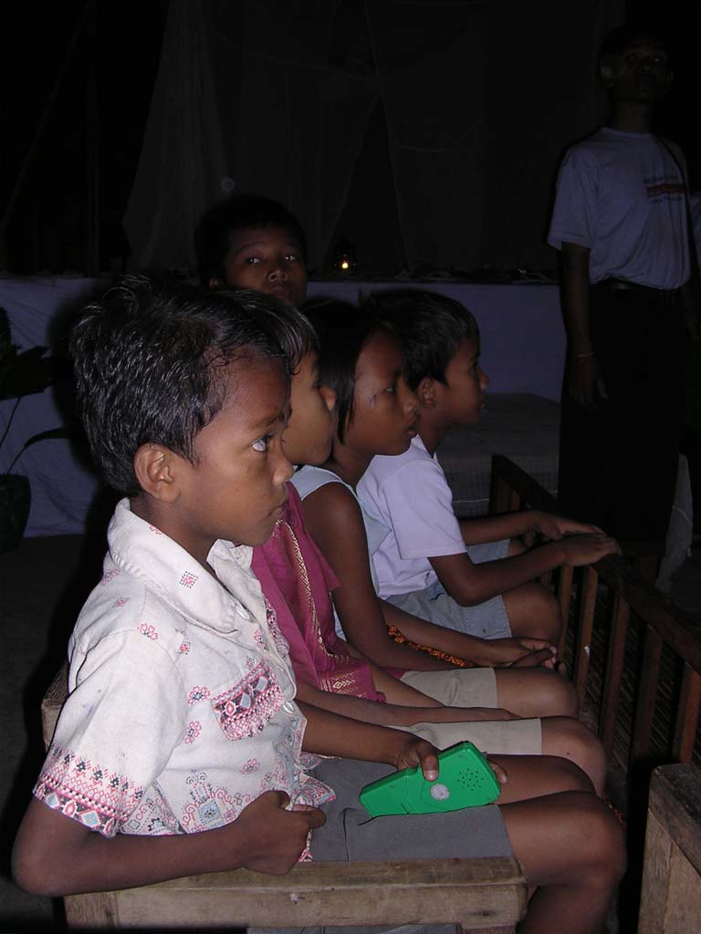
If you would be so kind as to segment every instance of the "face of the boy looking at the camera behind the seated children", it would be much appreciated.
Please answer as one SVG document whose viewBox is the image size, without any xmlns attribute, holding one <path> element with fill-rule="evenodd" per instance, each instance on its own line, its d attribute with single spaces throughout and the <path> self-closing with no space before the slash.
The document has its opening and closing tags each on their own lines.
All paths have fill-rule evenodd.
<svg viewBox="0 0 701 934">
<path fill-rule="evenodd" d="M 233 286 L 275 295 L 298 308 L 307 297 L 307 263 L 302 245 L 283 227 L 250 227 L 231 234 L 224 259 L 224 281 L 211 288 Z"/>
</svg>

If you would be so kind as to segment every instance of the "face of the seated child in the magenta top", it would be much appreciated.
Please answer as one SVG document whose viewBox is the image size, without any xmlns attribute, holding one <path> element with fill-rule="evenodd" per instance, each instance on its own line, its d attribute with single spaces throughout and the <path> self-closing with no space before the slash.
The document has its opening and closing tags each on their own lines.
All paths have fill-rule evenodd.
<svg viewBox="0 0 701 934">
<path fill-rule="evenodd" d="M 322 464 L 336 433 L 336 392 L 319 382 L 319 357 L 308 353 L 293 375 L 290 421 L 282 447 L 293 464 Z"/>
</svg>

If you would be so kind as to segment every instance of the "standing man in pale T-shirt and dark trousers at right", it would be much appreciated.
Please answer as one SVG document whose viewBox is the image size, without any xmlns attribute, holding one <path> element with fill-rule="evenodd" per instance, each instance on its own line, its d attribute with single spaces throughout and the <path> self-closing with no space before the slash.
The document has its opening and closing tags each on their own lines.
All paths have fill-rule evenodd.
<svg viewBox="0 0 701 934">
<path fill-rule="evenodd" d="M 664 553 L 684 425 L 692 308 L 686 178 L 651 133 L 672 81 L 665 43 L 622 27 L 599 58 L 606 126 L 560 169 L 548 242 L 562 252 L 567 332 L 560 497 L 626 543 Z"/>
</svg>

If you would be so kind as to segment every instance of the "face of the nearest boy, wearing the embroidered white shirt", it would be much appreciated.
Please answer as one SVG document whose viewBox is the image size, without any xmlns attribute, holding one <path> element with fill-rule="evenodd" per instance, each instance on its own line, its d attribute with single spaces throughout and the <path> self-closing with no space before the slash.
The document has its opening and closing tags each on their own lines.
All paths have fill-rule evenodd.
<svg viewBox="0 0 701 934">
<path fill-rule="evenodd" d="M 159 528 L 203 565 L 219 538 L 239 545 L 266 541 L 293 474 L 282 450 L 289 410 L 282 364 L 252 358 L 226 369 L 226 402 L 196 435 L 194 462 L 166 454 L 174 487 L 168 528 Z"/>
</svg>

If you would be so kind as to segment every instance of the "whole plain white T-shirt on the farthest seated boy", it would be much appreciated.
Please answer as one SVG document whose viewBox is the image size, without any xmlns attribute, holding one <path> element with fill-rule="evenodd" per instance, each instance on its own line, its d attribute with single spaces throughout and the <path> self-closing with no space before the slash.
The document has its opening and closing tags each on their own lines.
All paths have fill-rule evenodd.
<svg viewBox="0 0 701 934">
<path fill-rule="evenodd" d="M 418 436 L 404 454 L 373 458 L 358 497 L 389 527 L 373 555 L 380 597 L 431 587 L 437 576 L 428 559 L 467 551 L 446 475 Z"/>
</svg>

